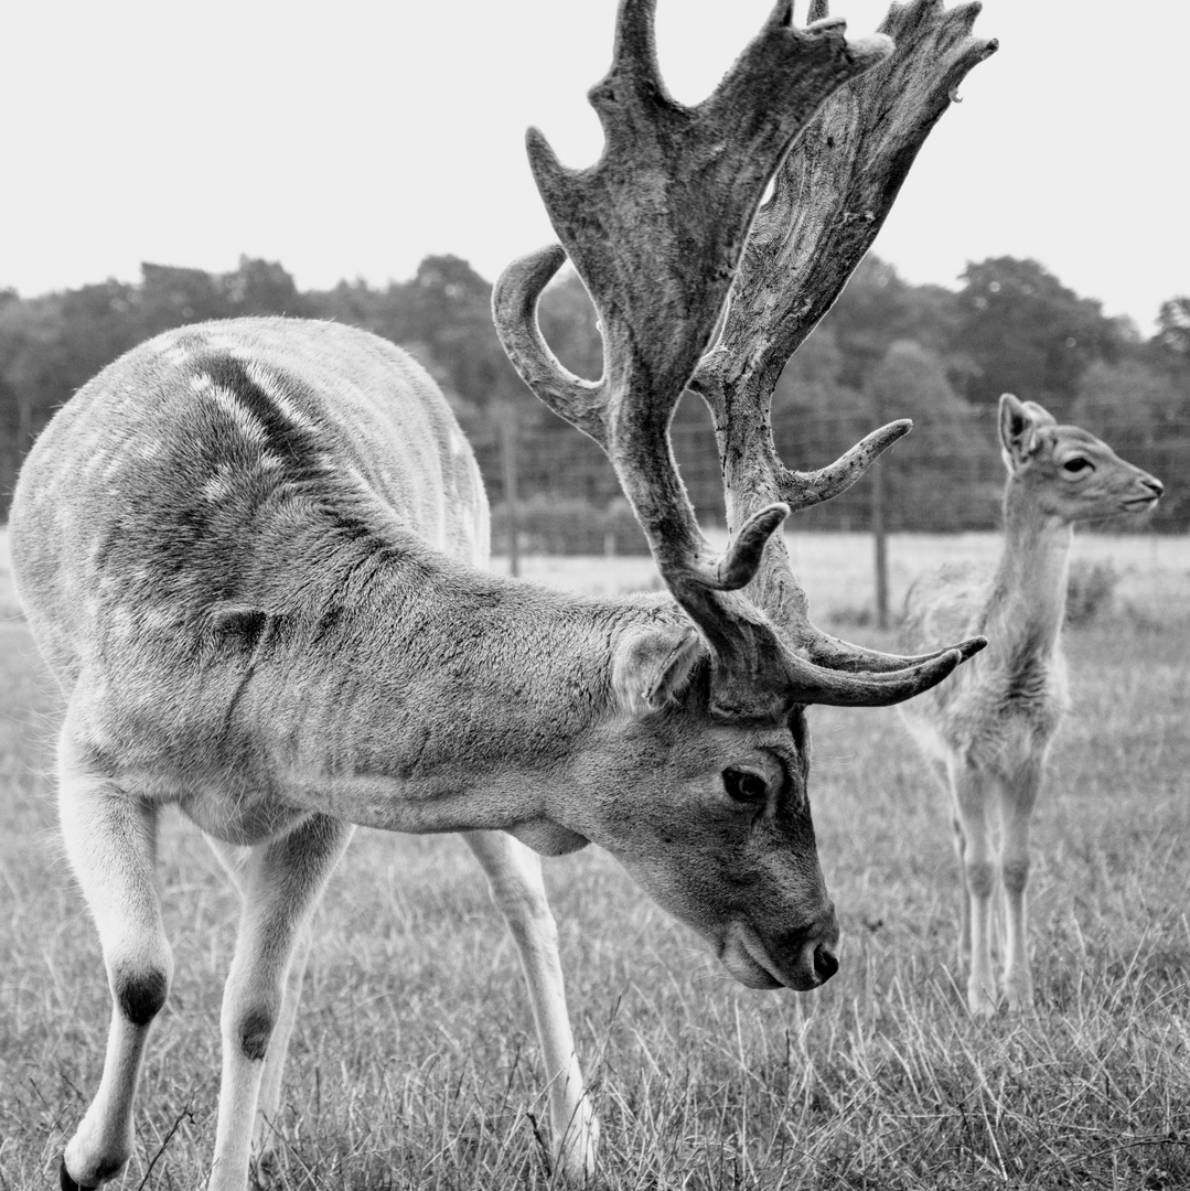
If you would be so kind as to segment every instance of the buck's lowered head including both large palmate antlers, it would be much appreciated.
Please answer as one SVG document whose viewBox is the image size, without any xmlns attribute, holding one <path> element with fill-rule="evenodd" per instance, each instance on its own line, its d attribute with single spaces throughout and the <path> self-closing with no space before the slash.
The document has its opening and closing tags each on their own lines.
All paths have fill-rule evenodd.
<svg viewBox="0 0 1190 1191">
<path fill-rule="evenodd" d="M 768 423 L 790 353 L 859 263 L 958 81 L 995 49 L 968 36 L 977 11 L 943 14 L 934 0 L 917 0 L 895 7 L 884 32 L 848 40 L 823 5 L 796 29 L 792 4 L 781 0 L 719 87 L 685 107 L 659 76 L 653 0 L 622 0 L 611 69 L 590 93 L 605 133 L 600 160 L 563 168 L 540 132 L 528 135 L 565 250 L 546 248 L 504 272 L 493 295 L 497 329 L 525 384 L 606 451 L 689 617 L 685 628 L 642 644 L 650 667 L 628 668 L 629 701 L 654 712 L 631 730 L 662 731 L 671 707 L 686 712 L 686 752 L 704 765 L 718 756 L 728 798 L 750 815 L 730 847 L 723 813 L 712 815 L 684 855 L 705 860 L 718 850 L 737 900 L 766 909 L 744 915 L 741 927 L 737 908 L 722 905 L 730 880 L 711 872 L 714 860 L 686 872 L 672 862 L 673 847 L 655 846 L 658 833 L 672 843 L 673 823 L 646 830 L 640 811 L 625 817 L 619 798 L 590 835 L 712 937 L 747 983 L 805 987 L 834 971 L 837 928 L 805 799 L 804 709 L 898 703 L 986 643 L 976 637 L 897 657 L 836 641 L 809 622 L 775 531 L 792 509 L 854 482 L 909 424 L 876 431 L 818 472 L 796 473 L 777 460 Z M 774 195 L 756 218 L 774 175 Z M 567 255 L 599 316 L 599 381 L 565 369 L 537 326 L 537 299 Z M 671 450 L 669 422 L 687 385 L 715 416 L 731 529 L 722 555 L 698 528 Z M 689 715 L 699 703 L 703 740 L 691 744 Z M 709 746 L 724 732 L 739 744 L 747 737 L 752 757 L 768 755 L 767 771 L 755 760 L 725 763 L 729 750 Z M 809 925 L 796 935 L 778 925 L 791 922 Z"/>
</svg>

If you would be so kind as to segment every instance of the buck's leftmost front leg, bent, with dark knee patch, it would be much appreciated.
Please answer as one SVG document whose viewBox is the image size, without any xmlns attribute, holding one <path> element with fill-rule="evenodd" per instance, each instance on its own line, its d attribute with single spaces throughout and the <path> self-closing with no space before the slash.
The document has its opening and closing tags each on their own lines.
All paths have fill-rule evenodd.
<svg viewBox="0 0 1190 1191">
<path fill-rule="evenodd" d="M 66 732 L 58 765 L 62 834 L 99 930 L 112 991 L 104 1074 L 62 1159 L 61 1184 L 75 1191 L 114 1178 L 132 1153 L 144 1047 L 174 965 L 154 873 L 156 807 L 88 772 Z"/>
</svg>

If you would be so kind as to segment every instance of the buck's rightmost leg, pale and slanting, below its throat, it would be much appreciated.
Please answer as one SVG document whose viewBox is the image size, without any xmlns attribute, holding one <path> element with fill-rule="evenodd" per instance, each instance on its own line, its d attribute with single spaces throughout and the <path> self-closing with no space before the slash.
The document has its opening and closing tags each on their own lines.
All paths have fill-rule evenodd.
<svg viewBox="0 0 1190 1191">
<path fill-rule="evenodd" d="M 541 861 L 503 831 L 472 831 L 463 838 L 487 873 L 492 900 L 503 912 L 521 954 L 549 1080 L 555 1161 L 567 1178 L 582 1185 L 594 1176 L 599 1124 L 574 1053 L 557 928 L 546 900 Z"/>
</svg>

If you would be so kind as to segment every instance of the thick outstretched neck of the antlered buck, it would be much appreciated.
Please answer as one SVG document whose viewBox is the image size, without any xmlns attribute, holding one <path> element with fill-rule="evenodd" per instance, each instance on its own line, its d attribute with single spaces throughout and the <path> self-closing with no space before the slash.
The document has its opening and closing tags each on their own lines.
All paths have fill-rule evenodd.
<svg viewBox="0 0 1190 1191">
<path fill-rule="evenodd" d="M 331 576 L 328 591 L 349 599 L 306 618 L 254 709 L 286 784 L 312 809 L 390 830 L 557 823 L 573 759 L 621 718 L 615 642 L 658 611 L 419 548 L 369 566 L 344 568 L 354 591 Z M 586 841 L 560 829 L 529 842 L 562 852 Z"/>
</svg>

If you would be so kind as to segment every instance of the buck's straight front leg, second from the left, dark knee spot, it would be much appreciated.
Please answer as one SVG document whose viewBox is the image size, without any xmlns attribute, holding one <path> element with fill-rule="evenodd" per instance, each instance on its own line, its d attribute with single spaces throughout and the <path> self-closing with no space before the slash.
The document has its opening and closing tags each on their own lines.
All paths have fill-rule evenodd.
<svg viewBox="0 0 1190 1191">
<path fill-rule="evenodd" d="M 284 1049 L 297 1014 L 289 972 L 305 960 L 301 946 L 310 916 L 351 828 L 311 815 L 279 840 L 254 848 L 239 867 L 243 912 L 236 953 L 223 996 L 223 1078 L 208 1191 L 243 1191 L 257 1105 L 280 1097 Z M 300 984 L 300 981 L 298 981 Z M 266 1059 L 276 1041 L 266 1085 Z M 276 1112 L 276 1103 L 268 1105 Z M 261 1171 L 268 1178 L 268 1171 Z"/>
</svg>

